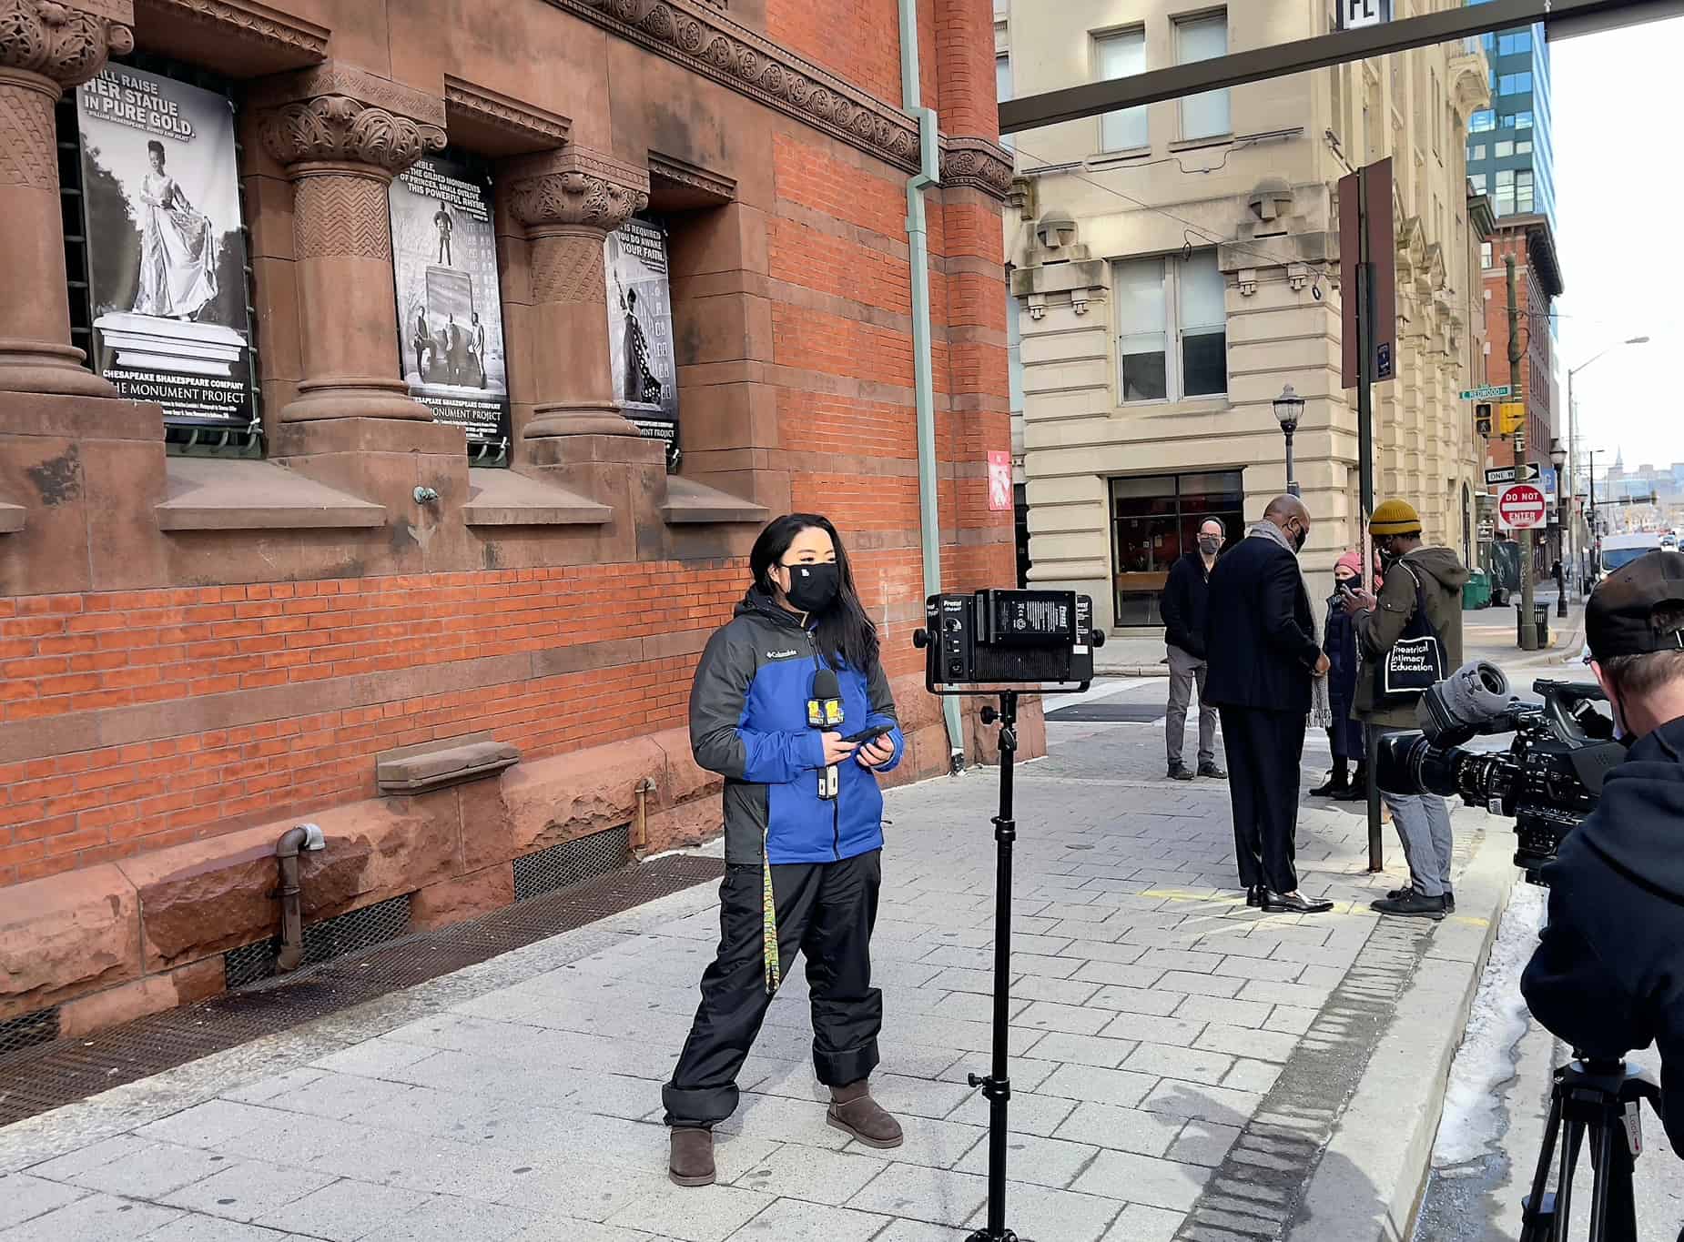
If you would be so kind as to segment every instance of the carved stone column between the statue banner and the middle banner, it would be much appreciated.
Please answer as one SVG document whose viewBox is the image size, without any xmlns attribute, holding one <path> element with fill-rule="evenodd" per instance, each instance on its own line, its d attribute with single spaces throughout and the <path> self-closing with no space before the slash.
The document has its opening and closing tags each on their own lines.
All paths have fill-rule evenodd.
<svg viewBox="0 0 1684 1242">
<path fill-rule="evenodd" d="M 281 421 L 429 421 L 401 379 L 387 187 L 443 150 L 445 101 L 328 62 L 258 103 L 263 146 L 293 183 L 303 380 Z"/>
</svg>

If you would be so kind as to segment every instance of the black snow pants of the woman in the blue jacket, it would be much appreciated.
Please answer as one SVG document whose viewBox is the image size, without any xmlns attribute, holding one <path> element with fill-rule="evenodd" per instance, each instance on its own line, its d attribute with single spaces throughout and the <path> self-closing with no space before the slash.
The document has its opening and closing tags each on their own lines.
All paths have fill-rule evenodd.
<svg viewBox="0 0 1684 1242">
<path fill-rule="evenodd" d="M 813 1070 L 830 1087 L 859 1082 L 877 1067 L 882 993 L 871 986 L 871 929 L 877 922 L 882 852 L 834 863 L 773 863 L 778 956 L 788 976 L 807 959 L 813 1006 Z M 738 1072 L 754 1045 L 771 996 L 761 919 L 761 868 L 726 867 L 719 885 L 719 954 L 702 973 L 702 1003 L 660 1091 L 669 1126 L 702 1126 L 738 1106 Z"/>
</svg>

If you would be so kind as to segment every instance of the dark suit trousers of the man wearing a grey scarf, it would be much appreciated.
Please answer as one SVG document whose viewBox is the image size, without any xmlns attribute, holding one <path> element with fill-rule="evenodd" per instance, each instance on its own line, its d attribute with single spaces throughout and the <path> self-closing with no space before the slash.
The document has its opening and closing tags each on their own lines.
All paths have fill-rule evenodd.
<svg viewBox="0 0 1684 1242">
<path fill-rule="evenodd" d="M 1303 712 L 1224 707 L 1221 715 L 1239 885 L 1297 892 L 1293 838 L 1298 825 Z"/>
</svg>

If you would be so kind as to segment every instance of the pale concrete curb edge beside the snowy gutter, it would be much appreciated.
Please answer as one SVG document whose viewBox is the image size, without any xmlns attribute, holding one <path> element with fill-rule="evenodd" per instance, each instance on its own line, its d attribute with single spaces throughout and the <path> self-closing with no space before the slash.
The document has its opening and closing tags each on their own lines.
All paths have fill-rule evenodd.
<svg viewBox="0 0 1684 1242">
<path fill-rule="evenodd" d="M 1465 914 L 1433 929 L 1433 944 L 1398 998 L 1287 1239 L 1410 1239 L 1431 1171 L 1450 1064 L 1516 877 L 1511 826 L 1495 821 L 1457 884 Z"/>
</svg>

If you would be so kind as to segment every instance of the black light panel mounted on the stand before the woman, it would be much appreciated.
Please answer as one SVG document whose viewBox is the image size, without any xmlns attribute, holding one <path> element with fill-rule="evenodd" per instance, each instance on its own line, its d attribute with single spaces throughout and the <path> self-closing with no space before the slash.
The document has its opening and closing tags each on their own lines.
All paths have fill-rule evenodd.
<svg viewBox="0 0 1684 1242">
<path fill-rule="evenodd" d="M 1049 682 L 1086 690 L 1105 631 L 1093 628 L 1093 599 L 1074 591 L 978 591 L 930 596 L 913 645 L 935 695 Z"/>
</svg>

